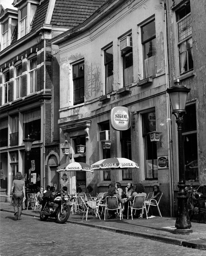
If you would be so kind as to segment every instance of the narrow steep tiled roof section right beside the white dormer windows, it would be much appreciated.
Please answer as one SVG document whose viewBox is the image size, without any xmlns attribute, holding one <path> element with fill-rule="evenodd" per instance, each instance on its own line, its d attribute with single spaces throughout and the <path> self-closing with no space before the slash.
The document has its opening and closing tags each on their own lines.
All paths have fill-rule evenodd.
<svg viewBox="0 0 206 256">
<path fill-rule="evenodd" d="M 36 28 L 38 25 L 44 23 L 46 18 L 46 12 L 48 9 L 49 0 L 44 0 L 36 9 L 35 17 L 32 22 L 32 29 Z"/>
</svg>

